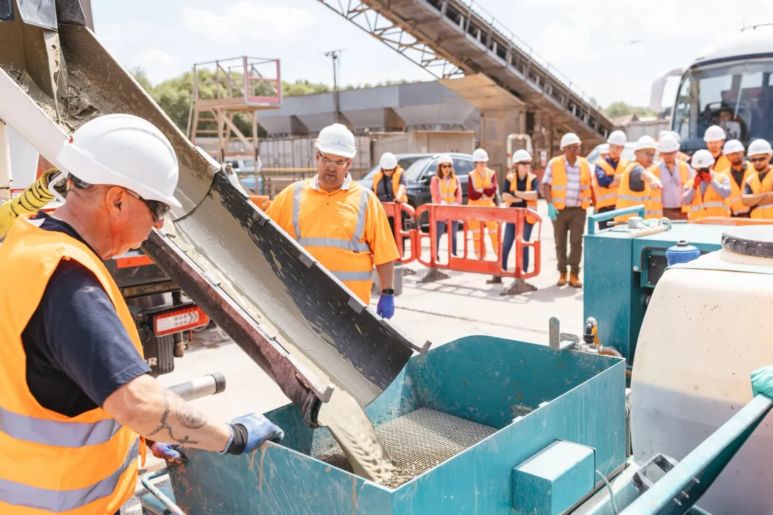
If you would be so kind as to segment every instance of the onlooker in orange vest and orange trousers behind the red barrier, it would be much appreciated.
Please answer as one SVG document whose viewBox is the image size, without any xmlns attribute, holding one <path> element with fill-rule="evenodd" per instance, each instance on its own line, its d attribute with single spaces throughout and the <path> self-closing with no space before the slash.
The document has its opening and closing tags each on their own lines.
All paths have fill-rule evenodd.
<svg viewBox="0 0 773 515">
<path fill-rule="evenodd" d="M 475 163 L 475 170 L 469 174 L 467 181 L 467 203 L 468 205 L 495 206 L 494 198 L 497 192 L 496 172 L 486 166 L 489 162 L 489 153 L 478 148 L 472 152 L 472 161 Z M 495 253 L 499 252 L 499 223 L 480 222 L 472 220 L 467 223 L 472 232 L 472 239 L 475 244 L 475 257 L 485 256 L 485 239 L 483 235 L 485 230 L 489 229 L 489 238 L 491 246 Z M 502 283 L 502 277 L 494 276 L 486 283 Z"/>
</svg>

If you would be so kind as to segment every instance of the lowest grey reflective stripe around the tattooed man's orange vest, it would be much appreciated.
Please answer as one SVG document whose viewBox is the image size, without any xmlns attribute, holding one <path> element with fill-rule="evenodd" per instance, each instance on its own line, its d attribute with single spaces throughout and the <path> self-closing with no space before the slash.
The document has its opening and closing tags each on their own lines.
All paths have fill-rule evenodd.
<svg viewBox="0 0 773 515">
<path fill-rule="evenodd" d="M 9 479 L 0 479 L 0 501 L 14 506 L 36 508 L 53 513 L 76 510 L 88 503 L 109 496 L 118 485 L 121 475 L 127 471 L 139 458 L 139 439 L 129 447 L 124 462 L 114 473 L 93 485 L 77 490 L 46 490 Z M 132 483 L 135 483 L 133 481 Z M 97 512 L 94 512 L 97 513 Z"/>
</svg>

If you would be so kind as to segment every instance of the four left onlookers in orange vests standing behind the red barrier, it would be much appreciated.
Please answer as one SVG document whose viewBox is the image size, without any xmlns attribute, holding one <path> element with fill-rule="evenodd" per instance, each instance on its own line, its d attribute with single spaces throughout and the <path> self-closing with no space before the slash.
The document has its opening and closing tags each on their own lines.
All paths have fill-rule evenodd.
<svg viewBox="0 0 773 515">
<path fill-rule="evenodd" d="M 467 204 L 495 207 L 497 205 L 496 172 L 488 166 L 489 154 L 482 148 L 472 152 L 475 170 L 469 172 L 467 181 Z M 527 151 L 516 151 L 512 158 L 512 173 L 506 175 L 504 185 L 499 193 L 509 207 L 531 208 L 536 211 L 536 201 L 539 195 L 539 181 L 531 171 L 531 154 Z M 380 158 L 380 171 L 373 177 L 373 191 L 382 202 L 406 202 L 405 179 L 403 169 L 397 164 L 397 158 L 389 152 Z M 461 205 L 461 181 L 454 170 L 454 160 L 449 154 L 441 154 L 437 159 L 437 170 L 430 181 L 430 191 L 433 204 Z M 438 253 L 440 241 L 447 229 L 446 222 L 436 222 L 435 252 Z M 526 217 L 523 228 L 523 238 L 529 241 L 536 218 Z M 451 233 L 448 235 L 451 252 L 458 256 L 458 222 L 451 222 Z M 489 235 L 494 252 L 499 252 L 500 235 L 498 222 L 468 222 L 468 230 L 472 234 L 475 257 L 481 256 L 485 246 L 485 235 Z M 502 269 L 507 269 L 512 246 L 515 243 L 516 226 L 506 223 L 502 240 Z M 485 253 L 485 252 L 484 252 Z M 523 255 L 523 270 L 529 269 L 529 252 Z M 502 277 L 493 276 L 487 283 L 502 283 Z"/>
</svg>

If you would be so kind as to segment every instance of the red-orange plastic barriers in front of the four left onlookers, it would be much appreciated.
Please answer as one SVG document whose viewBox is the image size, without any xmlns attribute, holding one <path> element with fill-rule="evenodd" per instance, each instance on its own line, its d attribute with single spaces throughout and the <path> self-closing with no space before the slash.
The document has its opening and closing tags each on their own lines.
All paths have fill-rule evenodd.
<svg viewBox="0 0 773 515">
<path fill-rule="evenodd" d="M 400 252 L 400 263 L 411 263 L 416 260 L 428 268 L 434 269 L 449 269 L 457 270 L 459 272 L 472 272 L 472 273 L 485 273 L 492 276 L 512 277 L 513 279 L 529 279 L 540 273 L 540 229 L 542 225 L 542 219 L 535 211 L 526 208 L 495 208 L 495 207 L 482 207 L 473 205 L 441 205 L 441 204 L 424 204 L 417 209 L 411 208 L 406 204 L 395 204 L 392 202 L 386 202 L 383 204 L 384 210 L 388 216 L 394 217 L 395 227 L 395 239 L 397 240 L 397 249 Z M 398 208 L 399 206 L 399 208 Z M 418 227 L 417 221 L 421 219 L 421 215 L 427 212 L 429 215 L 429 232 L 421 232 L 421 228 Z M 402 218 L 407 213 L 412 223 L 408 224 L 409 229 L 403 229 Z M 533 230 L 534 236 L 533 242 L 526 242 L 523 239 L 523 225 L 526 223 L 526 215 L 530 218 L 536 219 L 536 229 Z M 462 221 L 464 224 L 464 239 L 463 239 L 463 254 L 461 256 L 455 256 L 451 253 L 451 245 L 448 246 L 448 261 L 446 263 L 440 263 L 438 260 L 438 252 L 435 249 L 435 239 L 437 237 L 437 222 L 445 222 L 447 225 L 453 221 Z M 502 259 L 499 251 L 496 252 L 496 259 L 485 259 L 485 252 L 482 252 L 481 256 L 477 259 L 468 257 L 468 222 L 497 222 L 499 224 L 499 234 L 503 235 L 502 224 L 512 223 L 516 225 L 516 267 L 512 270 L 502 270 Z M 399 236 L 398 236 L 399 235 Z M 405 256 L 403 237 L 410 240 L 411 252 L 410 256 Z M 424 259 L 421 256 L 421 239 L 430 239 L 430 252 L 431 257 L 429 260 Z M 534 263 L 533 270 L 526 272 L 523 270 L 523 252 L 531 247 L 534 249 L 534 256 L 531 262 Z M 499 248 L 502 248 L 502 244 L 499 244 Z"/>
</svg>

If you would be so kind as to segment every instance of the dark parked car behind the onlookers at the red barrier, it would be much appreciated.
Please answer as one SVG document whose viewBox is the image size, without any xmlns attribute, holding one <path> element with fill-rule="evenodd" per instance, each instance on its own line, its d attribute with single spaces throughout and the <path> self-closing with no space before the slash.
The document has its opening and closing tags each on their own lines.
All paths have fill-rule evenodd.
<svg viewBox="0 0 773 515">
<path fill-rule="evenodd" d="M 438 158 L 442 154 L 396 154 L 397 164 L 405 169 L 406 194 L 408 204 L 414 208 L 422 204 L 432 202 L 430 193 L 430 181 L 432 175 L 438 170 Z M 448 155 L 454 160 L 454 171 L 461 183 L 461 202 L 467 203 L 467 180 L 468 174 L 475 170 L 475 164 L 472 162 L 472 155 L 458 154 L 449 152 Z M 366 188 L 373 188 L 373 176 L 380 166 L 376 164 L 371 170 L 359 179 L 359 184 Z M 421 225 L 427 225 L 429 219 L 424 215 L 421 219 Z"/>
</svg>

